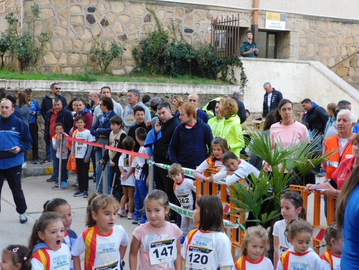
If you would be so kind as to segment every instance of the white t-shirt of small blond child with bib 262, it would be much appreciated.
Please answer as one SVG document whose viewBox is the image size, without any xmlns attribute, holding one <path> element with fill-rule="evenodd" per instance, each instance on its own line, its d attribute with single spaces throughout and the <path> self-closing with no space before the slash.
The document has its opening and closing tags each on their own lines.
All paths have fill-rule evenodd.
<svg viewBox="0 0 359 270">
<path fill-rule="evenodd" d="M 196 192 L 193 180 L 183 178 L 181 184 L 174 182 L 173 191 L 183 208 L 193 210 L 194 198 L 192 191 Z"/>
</svg>

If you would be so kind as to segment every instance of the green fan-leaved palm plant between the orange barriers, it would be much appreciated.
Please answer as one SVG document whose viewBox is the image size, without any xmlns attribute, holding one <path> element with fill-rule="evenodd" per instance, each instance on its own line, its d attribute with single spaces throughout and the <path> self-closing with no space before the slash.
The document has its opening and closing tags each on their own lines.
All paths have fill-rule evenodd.
<svg viewBox="0 0 359 270">
<path fill-rule="evenodd" d="M 316 165 L 319 165 L 338 150 L 325 155 L 318 155 L 320 138 L 313 136 L 314 141 L 308 144 L 307 141 L 300 141 L 295 145 L 296 138 L 292 144 L 284 148 L 282 141 L 273 143 L 269 136 L 254 131 L 249 133 L 251 138 L 248 148 L 251 152 L 263 159 L 271 167 L 271 173 L 265 174 L 262 170 L 257 177 L 251 175 L 247 179 L 250 187 L 247 189 L 241 183 L 235 183 L 233 190 L 230 190 L 234 198 L 229 198 L 238 208 L 242 210 L 232 211 L 229 214 L 252 212 L 257 225 L 272 221 L 272 226 L 280 216 L 281 196 L 289 189 L 289 184 L 296 177 L 303 178 Z M 273 149 L 272 149 L 273 145 Z M 314 147 L 318 146 L 318 147 Z M 290 173 L 286 173 L 286 170 Z M 271 213 L 260 215 L 262 205 L 272 201 L 275 210 Z"/>
</svg>

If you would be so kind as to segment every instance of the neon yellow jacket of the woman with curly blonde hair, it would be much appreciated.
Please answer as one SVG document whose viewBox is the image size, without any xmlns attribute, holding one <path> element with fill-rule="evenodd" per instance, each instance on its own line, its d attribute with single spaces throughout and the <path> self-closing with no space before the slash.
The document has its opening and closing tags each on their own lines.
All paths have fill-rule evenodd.
<svg viewBox="0 0 359 270">
<path fill-rule="evenodd" d="M 244 147 L 244 138 L 240 118 L 237 114 L 233 114 L 223 121 L 223 129 L 219 136 L 227 140 L 227 144 L 231 148 L 231 151 L 239 157 L 239 152 Z"/>
</svg>

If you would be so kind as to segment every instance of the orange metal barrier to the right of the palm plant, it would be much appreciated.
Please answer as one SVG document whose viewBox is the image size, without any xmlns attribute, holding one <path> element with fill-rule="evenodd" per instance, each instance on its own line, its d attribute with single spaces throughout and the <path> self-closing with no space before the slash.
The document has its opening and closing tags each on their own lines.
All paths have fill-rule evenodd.
<svg viewBox="0 0 359 270">
<path fill-rule="evenodd" d="M 303 198 L 303 206 L 306 210 L 306 217 L 308 218 L 308 192 L 304 191 L 305 186 L 291 185 L 290 189 L 295 191 L 300 191 Z M 320 245 L 320 243 L 325 243 L 324 241 L 324 230 L 326 227 L 320 226 L 320 203 L 321 196 L 319 191 L 313 190 L 310 193 L 314 195 L 314 206 L 313 206 L 313 248 Z M 325 196 L 325 195 L 323 195 Z M 328 198 L 328 208 L 327 208 L 327 226 L 334 222 L 335 214 L 335 199 L 337 197 L 327 197 Z M 315 249 L 315 252 L 319 255 L 319 249 Z"/>
</svg>

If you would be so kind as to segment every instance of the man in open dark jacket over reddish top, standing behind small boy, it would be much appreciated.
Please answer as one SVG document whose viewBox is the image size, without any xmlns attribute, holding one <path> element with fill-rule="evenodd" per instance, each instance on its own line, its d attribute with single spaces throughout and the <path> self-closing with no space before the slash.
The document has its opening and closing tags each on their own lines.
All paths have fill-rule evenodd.
<svg viewBox="0 0 359 270">
<path fill-rule="evenodd" d="M 49 110 L 45 115 L 45 128 L 44 128 L 44 138 L 45 143 L 49 146 L 51 151 L 51 158 L 53 160 L 54 171 L 51 178 L 47 179 L 47 182 L 54 182 L 58 180 L 59 176 L 59 159 L 56 158 L 56 150 L 52 146 L 52 137 L 55 135 L 55 124 L 62 123 L 63 130 L 66 134 L 70 133 L 70 130 L 73 125 L 72 113 L 62 105 L 60 98 L 54 98 L 53 108 Z"/>
</svg>

